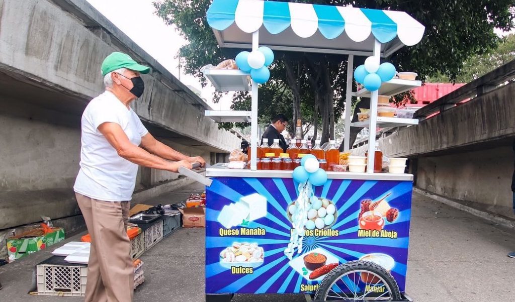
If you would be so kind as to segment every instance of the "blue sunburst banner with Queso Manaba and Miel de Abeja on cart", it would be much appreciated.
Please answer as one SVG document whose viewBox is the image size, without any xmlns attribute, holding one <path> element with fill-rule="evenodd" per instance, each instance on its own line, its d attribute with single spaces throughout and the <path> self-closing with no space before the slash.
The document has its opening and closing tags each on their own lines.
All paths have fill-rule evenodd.
<svg viewBox="0 0 515 302">
<path fill-rule="evenodd" d="M 336 263 L 357 259 L 382 265 L 404 292 L 412 182 L 329 180 L 314 187 L 302 251 L 289 259 L 297 186 L 292 179 L 213 179 L 206 293 L 312 293 Z"/>
</svg>

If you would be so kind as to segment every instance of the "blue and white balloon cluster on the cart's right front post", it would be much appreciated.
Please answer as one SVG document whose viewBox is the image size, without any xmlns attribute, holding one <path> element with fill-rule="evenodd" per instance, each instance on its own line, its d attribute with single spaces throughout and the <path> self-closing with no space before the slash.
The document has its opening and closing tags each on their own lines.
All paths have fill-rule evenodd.
<svg viewBox="0 0 515 302">
<path fill-rule="evenodd" d="M 364 65 L 359 65 L 354 70 L 354 79 L 372 92 L 379 90 L 383 82 L 393 79 L 396 73 L 397 70 L 393 64 L 383 63 L 379 65 L 379 59 L 368 57 Z"/>
</svg>

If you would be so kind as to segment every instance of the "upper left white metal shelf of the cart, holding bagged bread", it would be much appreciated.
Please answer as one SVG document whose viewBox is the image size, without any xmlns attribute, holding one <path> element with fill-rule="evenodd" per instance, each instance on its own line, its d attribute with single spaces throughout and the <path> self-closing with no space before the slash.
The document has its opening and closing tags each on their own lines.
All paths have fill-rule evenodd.
<svg viewBox="0 0 515 302">
<path fill-rule="evenodd" d="M 204 69 L 216 91 L 250 91 L 250 74 L 239 69 Z"/>
</svg>

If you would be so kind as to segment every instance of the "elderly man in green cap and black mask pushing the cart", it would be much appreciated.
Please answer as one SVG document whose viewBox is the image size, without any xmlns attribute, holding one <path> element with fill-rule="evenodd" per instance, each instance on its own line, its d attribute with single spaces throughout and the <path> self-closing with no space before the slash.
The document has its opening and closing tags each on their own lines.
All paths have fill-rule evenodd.
<svg viewBox="0 0 515 302">
<path fill-rule="evenodd" d="M 113 52 L 102 63 L 106 91 L 82 114 L 80 171 L 74 190 L 91 235 L 86 302 L 132 300 L 134 269 L 126 229 L 138 166 L 177 172 L 188 157 L 157 141 L 129 104 L 143 95 L 150 68 Z M 167 161 L 176 161 L 168 162 Z"/>
</svg>

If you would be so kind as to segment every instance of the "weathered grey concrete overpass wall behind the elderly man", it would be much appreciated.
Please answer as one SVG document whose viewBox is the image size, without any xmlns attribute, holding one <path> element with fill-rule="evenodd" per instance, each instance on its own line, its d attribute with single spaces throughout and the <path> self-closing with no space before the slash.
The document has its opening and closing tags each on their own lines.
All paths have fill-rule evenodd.
<svg viewBox="0 0 515 302">
<path fill-rule="evenodd" d="M 112 51 L 152 67 L 133 108 L 158 139 L 208 162 L 239 146 L 203 116 L 205 102 L 84 0 L 0 0 L 0 259 L 9 229 L 41 215 L 68 231 L 83 225 L 72 190 L 80 116 L 104 90 L 100 64 Z M 183 183 L 169 182 L 177 177 L 140 169 L 133 200 Z"/>
</svg>

